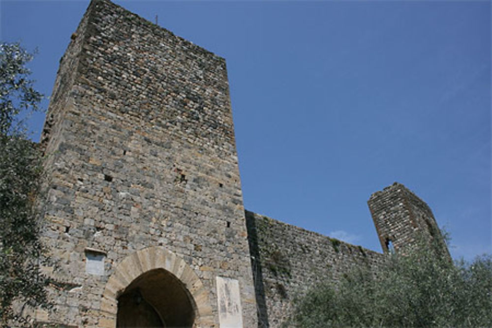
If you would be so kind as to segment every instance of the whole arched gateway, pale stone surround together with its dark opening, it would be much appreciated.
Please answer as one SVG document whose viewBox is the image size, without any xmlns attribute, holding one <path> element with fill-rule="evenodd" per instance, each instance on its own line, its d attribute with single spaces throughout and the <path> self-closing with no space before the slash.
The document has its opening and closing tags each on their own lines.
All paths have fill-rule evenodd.
<svg viewBox="0 0 492 328">
<path fill-rule="evenodd" d="M 127 256 L 105 286 L 104 326 L 207 327 L 213 323 L 208 292 L 184 260 L 162 247 Z"/>
</svg>

